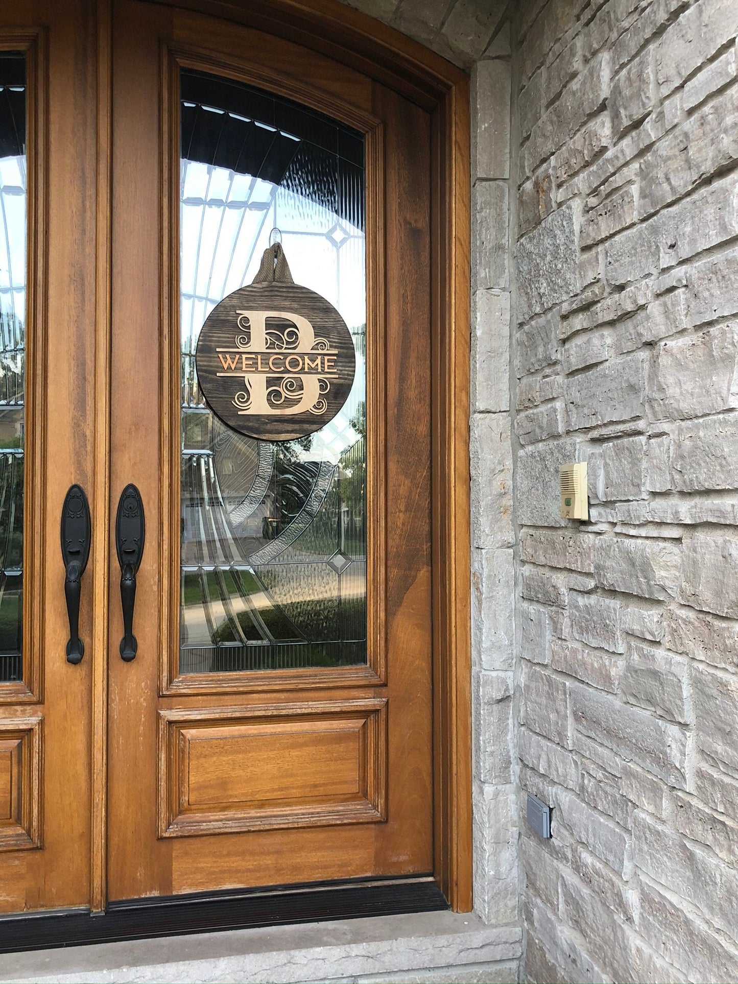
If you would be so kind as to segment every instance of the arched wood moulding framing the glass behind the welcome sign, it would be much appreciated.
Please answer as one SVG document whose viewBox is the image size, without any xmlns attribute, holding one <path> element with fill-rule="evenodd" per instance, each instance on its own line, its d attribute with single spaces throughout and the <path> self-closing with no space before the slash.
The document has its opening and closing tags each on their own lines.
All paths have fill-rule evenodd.
<svg viewBox="0 0 738 984">
<path fill-rule="evenodd" d="M 161 45 L 161 81 L 159 104 L 159 139 L 161 142 L 161 215 L 162 244 L 161 283 L 180 282 L 179 186 L 179 74 L 181 69 L 212 72 L 246 85 L 258 86 L 286 98 L 309 105 L 354 127 L 364 135 L 366 155 L 366 259 L 367 259 L 367 402 L 385 407 L 385 337 L 384 337 L 384 266 L 385 201 L 384 128 L 379 119 L 365 109 L 285 77 L 275 69 L 249 63 L 232 54 L 215 54 L 209 48 L 175 43 Z M 173 380 L 173 367 L 180 364 L 179 292 L 162 293 L 161 332 L 161 407 L 162 435 L 159 463 L 159 510 L 169 517 L 167 535 L 159 542 L 159 569 L 169 584 L 180 578 L 180 490 L 172 488 L 169 476 L 179 474 L 181 459 L 181 397 L 179 383 Z M 177 373 L 177 380 L 178 380 Z M 251 670 L 248 680 L 243 674 L 228 671 L 179 673 L 179 596 L 159 599 L 159 651 L 166 653 L 159 674 L 159 696 L 180 694 L 250 693 L 253 691 L 314 690 L 355 687 L 387 682 L 387 640 L 385 612 L 386 584 L 386 485 L 387 462 L 380 449 L 385 448 L 384 412 L 368 416 L 367 486 L 370 515 L 367 523 L 367 633 L 368 662 L 357 666 L 311 667 L 309 670 Z"/>
</svg>

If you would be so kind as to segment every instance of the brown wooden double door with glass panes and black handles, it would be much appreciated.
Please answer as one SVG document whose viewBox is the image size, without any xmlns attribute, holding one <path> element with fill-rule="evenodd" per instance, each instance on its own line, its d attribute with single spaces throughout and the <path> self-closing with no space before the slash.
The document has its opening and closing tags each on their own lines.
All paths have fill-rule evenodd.
<svg viewBox="0 0 738 984">
<path fill-rule="evenodd" d="M 429 119 L 168 4 L 4 8 L 0 911 L 432 873 Z M 276 238 L 356 365 L 288 442 L 195 366 Z"/>
</svg>

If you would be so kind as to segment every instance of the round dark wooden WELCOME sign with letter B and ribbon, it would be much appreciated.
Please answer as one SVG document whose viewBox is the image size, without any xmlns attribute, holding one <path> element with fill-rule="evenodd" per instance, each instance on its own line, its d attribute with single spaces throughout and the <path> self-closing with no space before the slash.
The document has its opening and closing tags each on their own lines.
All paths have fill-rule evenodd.
<svg viewBox="0 0 738 984">
<path fill-rule="evenodd" d="M 254 282 L 208 315 L 195 365 L 203 396 L 224 424 L 264 441 L 292 441 L 336 416 L 356 355 L 336 308 L 292 281 L 276 243 Z"/>
</svg>

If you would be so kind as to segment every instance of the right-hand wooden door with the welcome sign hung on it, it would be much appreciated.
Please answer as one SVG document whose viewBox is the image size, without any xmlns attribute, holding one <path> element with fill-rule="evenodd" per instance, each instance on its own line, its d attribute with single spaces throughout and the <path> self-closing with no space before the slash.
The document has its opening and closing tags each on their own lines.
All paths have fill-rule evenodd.
<svg viewBox="0 0 738 984">
<path fill-rule="evenodd" d="M 133 482 L 146 546 L 130 662 L 110 570 L 109 897 L 430 874 L 428 114 L 203 15 L 112 31 L 110 509 Z M 274 228 L 357 354 L 286 443 L 193 367 Z"/>
</svg>

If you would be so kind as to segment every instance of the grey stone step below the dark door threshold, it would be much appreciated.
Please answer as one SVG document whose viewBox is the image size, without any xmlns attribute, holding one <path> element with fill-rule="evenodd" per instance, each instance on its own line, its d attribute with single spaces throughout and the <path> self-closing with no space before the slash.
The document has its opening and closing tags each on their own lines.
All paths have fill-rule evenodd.
<svg viewBox="0 0 738 984">
<path fill-rule="evenodd" d="M 519 926 L 485 926 L 473 913 L 422 912 L 4 953 L 0 982 L 512 984 L 521 952 Z"/>
</svg>

